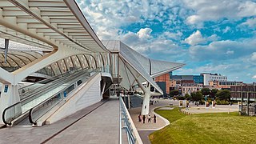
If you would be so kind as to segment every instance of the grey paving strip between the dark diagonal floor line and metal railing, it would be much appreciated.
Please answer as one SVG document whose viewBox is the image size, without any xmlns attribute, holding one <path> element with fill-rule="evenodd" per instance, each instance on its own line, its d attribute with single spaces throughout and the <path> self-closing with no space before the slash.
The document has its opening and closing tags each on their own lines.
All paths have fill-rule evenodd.
<svg viewBox="0 0 256 144">
<path fill-rule="evenodd" d="M 119 101 L 110 100 L 47 143 L 118 144 Z"/>
</svg>

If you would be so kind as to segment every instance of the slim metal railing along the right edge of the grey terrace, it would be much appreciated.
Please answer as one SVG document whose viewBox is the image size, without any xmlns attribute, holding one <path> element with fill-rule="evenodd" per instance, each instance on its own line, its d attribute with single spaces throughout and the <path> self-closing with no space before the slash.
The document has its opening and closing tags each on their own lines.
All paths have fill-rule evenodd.
<svg viewBox="0 0 256 144">
<path fill-rule="evenodd" d="M 127 140 L 129 144 L 136 143 L 137 138 L 134 137 L 134 129 L 131 126 L 131 119 L 128 118 L 128 110 L 125 103 L 122 101 L 122 97 L 119 97 L 120 102 L 120 123 L 119 123 L 119 144 L 122 144 L 122 130 L 126 130 Z"/>
</svg>

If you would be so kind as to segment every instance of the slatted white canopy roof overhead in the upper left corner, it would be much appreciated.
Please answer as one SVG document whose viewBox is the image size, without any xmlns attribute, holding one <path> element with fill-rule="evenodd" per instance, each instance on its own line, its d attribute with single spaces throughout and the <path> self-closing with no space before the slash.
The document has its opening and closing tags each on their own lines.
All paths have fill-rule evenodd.
<svg viewBox="0 0 256 144">
<path fill-rule="evenodd" d="M 48 50 L 107 52 L 74 0 L 2 0 L 0 8 L 0 38 Z"/>
</svg>

